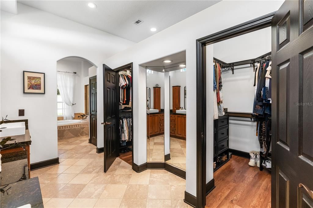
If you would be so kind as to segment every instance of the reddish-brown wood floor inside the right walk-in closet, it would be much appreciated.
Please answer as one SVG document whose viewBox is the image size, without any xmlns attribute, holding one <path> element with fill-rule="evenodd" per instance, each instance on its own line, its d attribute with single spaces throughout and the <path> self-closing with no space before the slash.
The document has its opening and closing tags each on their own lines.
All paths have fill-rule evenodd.
<svg viewBox="0 0 313 208">
<path fill-rule="evenodd" d="M 233 156 L 214 172 L 216 188 L 206 197 L 208 208 L 271 207 L 271 174 L 248 165 L 249 159 Z"/>
</svg>

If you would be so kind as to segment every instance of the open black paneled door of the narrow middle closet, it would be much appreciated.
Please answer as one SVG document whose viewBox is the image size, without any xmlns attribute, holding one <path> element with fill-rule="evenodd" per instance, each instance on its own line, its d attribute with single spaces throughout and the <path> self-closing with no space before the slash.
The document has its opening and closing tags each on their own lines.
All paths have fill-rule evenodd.
<svg viewBox="0 0 313 208">
<path fill-rule="evenodd" d="M 104 172 L 106 172 L 119 154 L 119 75 L 103 64 L 103 103 L 104 103 Z"/>
</svg>

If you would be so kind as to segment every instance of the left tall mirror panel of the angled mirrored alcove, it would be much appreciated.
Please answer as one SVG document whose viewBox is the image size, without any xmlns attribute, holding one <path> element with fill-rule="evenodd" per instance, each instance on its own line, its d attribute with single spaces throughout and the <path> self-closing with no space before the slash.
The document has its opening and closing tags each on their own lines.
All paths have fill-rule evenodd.
<svg viewBox="0 0 313 208">
<path fill-rule="evenodd" d="M 146 70 L 147 161 L 164 162 L 164 72 Z"/>
</svg>

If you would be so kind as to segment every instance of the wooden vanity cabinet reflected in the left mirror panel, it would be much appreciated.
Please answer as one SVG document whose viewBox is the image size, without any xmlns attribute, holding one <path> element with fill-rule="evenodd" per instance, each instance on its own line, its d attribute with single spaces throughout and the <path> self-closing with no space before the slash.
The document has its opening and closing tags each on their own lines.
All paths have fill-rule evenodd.
<svg viewBox="0 0 313 208">
<path fill-rule="evenodd" d="M 164 133 L 164 113 L 147 114 L 147 135 L 156 136 Z"/>
</svg>

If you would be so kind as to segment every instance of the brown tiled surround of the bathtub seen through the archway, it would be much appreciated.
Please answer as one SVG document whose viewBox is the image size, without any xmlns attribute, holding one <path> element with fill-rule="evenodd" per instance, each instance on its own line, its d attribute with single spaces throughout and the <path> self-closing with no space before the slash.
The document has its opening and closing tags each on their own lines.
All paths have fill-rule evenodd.
<svg viewBox="0 0 313 208">
<path fill-rule="evenodd" d="M 89 123 L 76 123 L 58 126 L 58 140 L 89 136 Z"/>
</svg>

